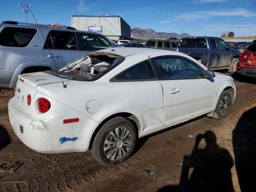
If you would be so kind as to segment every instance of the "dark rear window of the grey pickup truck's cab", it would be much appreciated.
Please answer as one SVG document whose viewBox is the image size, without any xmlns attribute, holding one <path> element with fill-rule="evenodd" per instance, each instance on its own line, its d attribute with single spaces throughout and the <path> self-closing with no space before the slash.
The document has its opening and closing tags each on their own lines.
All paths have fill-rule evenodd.
<svg viewBox="0 0 256 192">
<path fill-rule="evenodd" d="M 179 43 L 179 48 L 207 48 L 205 38 L 182 39 Z"/>
</svg>

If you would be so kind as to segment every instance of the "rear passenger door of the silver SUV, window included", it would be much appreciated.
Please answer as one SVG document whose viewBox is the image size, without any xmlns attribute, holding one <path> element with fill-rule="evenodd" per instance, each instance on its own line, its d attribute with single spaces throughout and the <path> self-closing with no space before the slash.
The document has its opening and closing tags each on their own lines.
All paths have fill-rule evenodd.
<svg viewBox="0 0 256 192">
<path fill-rule="evenodd" d="M 57 68 L 85 54 L 86 52 L 78 49 L 78 41 L 75 32 L 52 30 L 49 32 L 43 48 L 45 65 L 55 66 L 56 64 Z"/>
</svg>

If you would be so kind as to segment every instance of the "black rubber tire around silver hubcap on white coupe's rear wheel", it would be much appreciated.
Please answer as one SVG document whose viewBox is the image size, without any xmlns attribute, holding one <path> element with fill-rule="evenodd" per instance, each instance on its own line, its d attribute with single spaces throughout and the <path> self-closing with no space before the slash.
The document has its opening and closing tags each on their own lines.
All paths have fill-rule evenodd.
<svg viewBox="0 0 256 192">
<path fill-rule="evenodd" d="M 106 145 L 105 141 L 107 140 L 107 137 L 109 136 L 110 132 L 115 131 L 116 128 L 118 128 L 118 130 L 121 130 L 122 128 L 126 128 L 127 132 L 129 130 L 130 133 L 128 132 L 129 133 L 128 138 L 132 137 L 132 142 L 131 142 L 131 144 L 129 144 L 130 148 L 128 150 L 126 148 L 126 152 L 127 152 L 126 154 L 124 154 L 124 150 L 122 150 L 121 155 L 120 155 L 120 156 L 123 155 L 122 158 L 120 158 L 118 160 L 111 160 L 109 158 L 115 158 L 114 157 L 115 153 L 113 153 L 113 155 L 111 157 L 107 158 L 108 153 L 105 155 L 105 152 L 107 150 L 105 150 L 105 152 L 104 152 L 104 146 L 108 147 L 108 145 Z M 119 140 L 122 140 L 121 135 L 122 135 L 122 130 L 120 133 Z M 116 137 L 116 138 L 118 138 L 118 137 Z M 121 151 L 121 148 L 123 149 L 123 144 L 125 143 L 125 140 L 123 142 L 121 142 L 122 144 L 121 144 L 120 148 L 117 147 L 117 141 L 118 140 L 114 139 L 114 137 L 113 137 L 112 149 Z M 92 143 L 91 154 L 100 164 L 115 165 L 115 164 L 119 164 L 119 163 L 125 161 L 126 159 L 128 159 L 130 157 L 130 155 L 132 154 L 132 151 L 134 150 L 135 143 L 136 143 L 136 130 L 135 130 L 133 124 L 126 118 L 115 117 L 115 118 L 108 120 L 96 134 L 96 136 L 93 140 L 93 143 Z M 110 153 L 111 152 L 109 150 L 109 154 Z M 119 153 L 117 153 L 117 158 L 118 158 L 118 155 L 119 155 Z"/>
</svg>

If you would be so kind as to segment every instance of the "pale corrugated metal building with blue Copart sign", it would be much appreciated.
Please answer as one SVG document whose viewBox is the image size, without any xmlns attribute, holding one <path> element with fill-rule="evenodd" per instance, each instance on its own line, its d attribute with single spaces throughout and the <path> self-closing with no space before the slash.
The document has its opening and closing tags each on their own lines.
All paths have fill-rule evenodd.
<svg viewBox="0 0 256 192">
<path fill-rule="evenodd" d="M 71 26 L 77 30 L 104 34 L 111 40 L 131 39 L 131 28 L 120 16 L 73 15 Z"/>
</svg>

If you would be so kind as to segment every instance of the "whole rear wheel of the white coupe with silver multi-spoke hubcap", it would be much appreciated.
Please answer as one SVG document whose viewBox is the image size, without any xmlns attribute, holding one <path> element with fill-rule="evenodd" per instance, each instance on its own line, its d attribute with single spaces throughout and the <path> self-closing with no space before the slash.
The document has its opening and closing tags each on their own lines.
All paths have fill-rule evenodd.
<svg viewBox="0 0 256 192">
<path fill-rule="evenodd" d="M 115 165 L 130 157 L 136 142 L 133 124 L 123 117 L 106 122 L 92 143 L 92 156 L 103 165 Z"/>
</svg>

